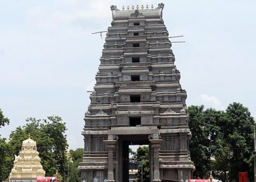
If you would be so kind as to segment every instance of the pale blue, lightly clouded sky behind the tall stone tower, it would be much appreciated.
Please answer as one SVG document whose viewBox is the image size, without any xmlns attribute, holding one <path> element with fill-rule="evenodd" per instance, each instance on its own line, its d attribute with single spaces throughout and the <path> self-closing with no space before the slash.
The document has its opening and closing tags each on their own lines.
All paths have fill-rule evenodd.
<svg viewBox="0 0 256 182">
<path fill-rule="evenodd" d="M 256 116 L 256 1 L 161 1 L 187 105 L 225 109 L 240 102 Z M 0 108 L 8 138 L 27 117 L 58 115 L 72 149 L 80 134 L 102 54 L 110 5 L 159 1 L 0 1 Z M 103 35 L 103 38 L 105 34 Z"/>
</svg>

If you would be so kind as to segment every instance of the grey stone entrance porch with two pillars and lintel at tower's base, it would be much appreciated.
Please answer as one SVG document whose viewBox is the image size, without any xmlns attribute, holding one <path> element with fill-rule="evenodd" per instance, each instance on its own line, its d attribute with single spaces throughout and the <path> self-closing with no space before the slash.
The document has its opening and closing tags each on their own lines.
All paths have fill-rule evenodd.
<svg viewBox="0 0 256 182">
<path fill-rule="evenodd" d="M 150 181 L 159 180 L 159 129 L 152 126 L 115 127 L 104 141 L 108 149 L 108 176 L 117 181 L 129 181 L 129 145 L 148 145 L 150 150 Z M 111 180 L 115 181 L 115 180 Z"/>
</svg>

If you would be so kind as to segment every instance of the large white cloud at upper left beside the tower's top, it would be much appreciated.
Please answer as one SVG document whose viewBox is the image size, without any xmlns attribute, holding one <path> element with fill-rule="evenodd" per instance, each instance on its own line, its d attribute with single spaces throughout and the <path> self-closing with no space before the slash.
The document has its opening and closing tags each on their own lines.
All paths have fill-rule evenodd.
<svg viewBox="0 0 256 182">
<path fill-rule="evenodd" d="M 104 16 L 103 16 L 104 14 Z M 111 19 L 110 4 L 106 1 L 67 1 L 59 8 L 48 9 L 46 5 L 34 6 L 26 11 L 27 24 L 37 31 L 58 31 L 87 24 L 86 29 L 92 28 L 88 22 L 98 22 Z"/>
</svg>

